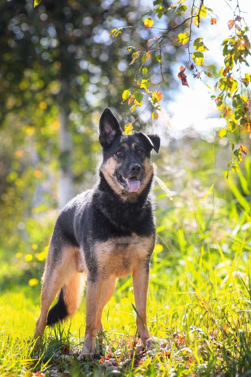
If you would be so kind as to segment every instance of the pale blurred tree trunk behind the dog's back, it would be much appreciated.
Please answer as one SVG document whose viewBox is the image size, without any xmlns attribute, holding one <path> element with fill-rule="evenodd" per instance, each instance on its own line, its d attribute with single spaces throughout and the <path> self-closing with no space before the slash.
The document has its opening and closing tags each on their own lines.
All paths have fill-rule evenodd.
<svg viewBox="0 0 251 377">
<path fill-rule="evenodd" d="M 72 136 L 68 130 L 69 113 L 59 106 L 59 179 L 58 208 L 62 207 L 74 196 L 72 174 Z"/>
</svg>

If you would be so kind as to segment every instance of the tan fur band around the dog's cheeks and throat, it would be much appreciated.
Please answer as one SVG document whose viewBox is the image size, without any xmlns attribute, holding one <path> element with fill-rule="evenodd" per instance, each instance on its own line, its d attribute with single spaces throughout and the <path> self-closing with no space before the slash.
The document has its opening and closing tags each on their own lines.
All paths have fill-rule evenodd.
<svg viewBox="0 0 251 377">
<path fill-rule="evenodd" d="M 150 179 L 153 176 L 153 164 L 149 158 L 145 157 L 143 160 L 143 166 L 145 169 L 145 173 L 143 179 L 141 181 L 141 186 L 138 191 L 130 192 L 126 188 L 124 188 L 117 180 L 117 177 L 114 175 L 116 169 L 118 168 L 119 164 L 114 157 L 108 158 L 108 160 L 101 165 L 100 170 L 104 174 L 104 177 L 110 187 L 113 189 L 116 194 L 118 194 L 124 200 L 137 200 L 138 195 L 142 192 L 144 188 L 148 185 Z"/>
</svg>

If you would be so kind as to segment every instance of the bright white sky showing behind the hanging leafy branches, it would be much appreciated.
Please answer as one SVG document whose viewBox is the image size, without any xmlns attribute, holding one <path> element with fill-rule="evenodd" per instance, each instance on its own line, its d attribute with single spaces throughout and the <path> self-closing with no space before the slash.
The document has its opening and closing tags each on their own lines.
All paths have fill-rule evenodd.
<svg viewBox="0 0 251 377">
<path fill-rule="evenodd" d="M 209 49 L 209 51 L 204 52 L 205 63 L 217 63 L 220 67 L 223 65 L 221 44 L 223 39 L 231 34 L 227 22 L 233 18 L 233 11 L 227 4 L 235 9 L 236 0 L 205 0 L 204 4 L 218 15 L 217 24 L 210 25 L 209 19 L 206 19 L 200 29 L 193 28 L 192 38 L 195 39 L 196 36 L 204 37 L 203 41 Z M 242 11 L 248 12 L 248 14 L 243 13 L 243 16 L 247 25 L 251 27 L 251 0 L 239 0 L 239 5 Z M 197 35 L 196 32 L 198 32 Z M 249 63 L 251 65 L 251 58 L 249 58 Z M 180 65 L 174 66 L 174 72 L 179 72 Z M 242 72 L 251 73 L 251 67 L 244 64 Z M 203 75 L 204 77 L 206 78 L 205 75 Z M 205 81 L 211 86 L 212 90 L 209 90 L 200 80 L 194 79 L 192 75 L 188 74 L 190 88 L 182 86 L 180 82 L 178 90 L 173 93 L 174 100 L 168 102 L 166 106 L 162 104 L 163 114 L 160 116 L 159 127 L 162 129 L 168 127 L 170 133 L 177 137 L 190 126 L 193 126 L 196 131 L 202 134 L 210 133 L 213 127 L 223 126 L 224 121 L 218 118 L 219 113 L 215 102 L 210 98 L 216 80 L 211 78 Z M 166 115 L 166 112 L 170 114 L 170 117 Z"/>
</svg>

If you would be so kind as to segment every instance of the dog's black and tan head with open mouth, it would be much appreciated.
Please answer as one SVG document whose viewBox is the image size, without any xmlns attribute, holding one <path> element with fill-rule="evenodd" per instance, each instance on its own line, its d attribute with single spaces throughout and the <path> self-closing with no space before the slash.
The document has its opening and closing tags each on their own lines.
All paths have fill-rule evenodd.
<svg viewBox="0 0 251 377">
<path fill-rule="evenodd" d="M 158 135 L 135 132 L 123 135 L 118 121 L 106 108 L 99 121 L 99 142 L 103 148 L 103 173 L 110 187 L 123 198 L 137 197 L 153 176 L 151 151 L 160 149 Z"/>
</svg>

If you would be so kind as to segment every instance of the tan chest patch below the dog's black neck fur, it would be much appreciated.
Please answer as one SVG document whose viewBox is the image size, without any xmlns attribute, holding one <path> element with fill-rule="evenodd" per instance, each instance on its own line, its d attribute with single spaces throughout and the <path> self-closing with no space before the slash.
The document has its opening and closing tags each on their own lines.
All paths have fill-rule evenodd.
<svg viewBox="0 0 251 377">
<path fill-rule="evenodd" d="M 154 236 L 114 237 L 96 244 L 99 271 L 105 275 L 123 277 L 149 258 Z"/>
</svg>

